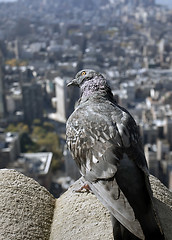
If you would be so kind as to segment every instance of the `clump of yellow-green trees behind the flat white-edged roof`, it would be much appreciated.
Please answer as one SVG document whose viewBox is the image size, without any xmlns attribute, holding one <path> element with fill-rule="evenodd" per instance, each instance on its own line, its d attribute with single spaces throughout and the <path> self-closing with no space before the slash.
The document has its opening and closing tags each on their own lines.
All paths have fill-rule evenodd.
<svg viewBox="0 0 172 240">
<path fill-rule="evenodd" d="M 52 169 L 56 171 L 62 163 L 62 152 L 59 137 L 54 130 L 53 124 L 35 119 L 29 130 L 24 123 L 9 124 L 6 132 L 18 132 L 22 152 L 52 152 Z"/>
</svg>

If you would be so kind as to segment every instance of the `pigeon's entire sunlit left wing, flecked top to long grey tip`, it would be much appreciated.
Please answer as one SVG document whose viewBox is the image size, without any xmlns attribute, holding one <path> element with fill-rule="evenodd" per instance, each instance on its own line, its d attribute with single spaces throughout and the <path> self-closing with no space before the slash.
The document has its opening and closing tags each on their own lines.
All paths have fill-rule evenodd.
<svg viewBox="0 0 172 240">
<path fill-rule="evenodd" d="M 87 114 L 86 114 L 87 113 Z M 119 189 L 115 174 L 122 139 L 117 124 L 109 116 L 87 111 L 77 112 L 67 122 L 67 144 L 81 174 L 97 198 L 129 231 L 144 239 L 139 222 Z"/>
</svg>

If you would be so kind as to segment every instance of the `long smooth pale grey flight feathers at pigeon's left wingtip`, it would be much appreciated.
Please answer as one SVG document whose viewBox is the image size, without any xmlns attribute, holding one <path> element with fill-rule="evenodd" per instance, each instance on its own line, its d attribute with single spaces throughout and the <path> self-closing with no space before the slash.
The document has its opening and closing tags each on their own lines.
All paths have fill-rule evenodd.
<svg viewBox="0 0 172 240">
<path fill-rule="evenodd" d="M 96 197 L 125 228 L 137 236 L 138 239 L 145 239 L 133 209 L 122 191 L 119 190 L 115 178 L 109 181 L 89 182 L 89 186 Z"/>
</svg>

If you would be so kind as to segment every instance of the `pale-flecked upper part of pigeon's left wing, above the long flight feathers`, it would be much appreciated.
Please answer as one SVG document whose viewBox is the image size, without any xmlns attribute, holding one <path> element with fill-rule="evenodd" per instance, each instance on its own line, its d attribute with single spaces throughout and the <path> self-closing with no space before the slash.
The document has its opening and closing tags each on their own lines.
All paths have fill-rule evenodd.
<svg viewBox="0 0 172 240">
<path fill-rule="evenodd" d="M 122 157 L 116 124 L 89 108 L 76 111 L 67 121 L 67 145 L 82 174 L 90 181 L 110 179 Z"/>
</svg>

